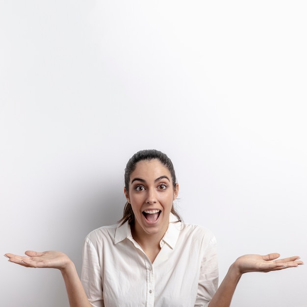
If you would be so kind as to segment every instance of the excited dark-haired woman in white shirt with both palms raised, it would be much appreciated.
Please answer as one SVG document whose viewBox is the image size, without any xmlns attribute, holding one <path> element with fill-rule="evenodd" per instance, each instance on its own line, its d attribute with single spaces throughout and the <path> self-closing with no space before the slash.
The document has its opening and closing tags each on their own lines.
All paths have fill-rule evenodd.
<svg viewBox="0 0 307 307">
<path fill-rule="evenodd" d="M 59 269 L 71 307 L 229 307 L 242 274 L 303 264 L 298 256 L 241 256 L 218 288 L 215 238 L 180 220 L 173 207 L 178 191 L 171 160 L 159 151 L 140 151 L 125 169 L 120 224 L 94 230 L 84 241 L 81 281 L 60 252 L 5 256 L 26 267 Z"/>
</svg>

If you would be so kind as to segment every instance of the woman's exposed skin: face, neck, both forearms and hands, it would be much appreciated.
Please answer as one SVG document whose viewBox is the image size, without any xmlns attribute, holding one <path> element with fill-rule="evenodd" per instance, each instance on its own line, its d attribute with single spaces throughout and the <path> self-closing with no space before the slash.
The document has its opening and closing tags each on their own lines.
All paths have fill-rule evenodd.
<svg viewBox="0 0 307 307">
<path fill-rule="evenodd" d="M 129 190 L 124 189 L 135 214 L 135 225 L 131 228 L 133 238 L 152 262 L 160 250 L 159 241 L 167 230 L 169 213 L 173 200 L 177 198 L 178 189 L 178 184 L 175 188 L 173 187 L 168 169 L 157 160 L 138 162 L 130 177 Z M 148 223 L 144 219 L 142 212 L 148 209 L 161 211 L 156 222 Z M 70 306 L 91 307 L 75 265 L 67 255 L 56 251 L 43 253 L 26 251 L 26 256 L 14 254 L 4 256 L 9 258 L 8 261 L 25 267 L 59 269 L 65 281 Z M 273 253 L 265 256 L 245 255 L 237 258 L 230 265 L 209 307 L 230 307 L 233 293 L 242 274 L 277 271 L 304 264 L 299 260 L 299 256 L 277 259 L 279 256 L 280 254 Z"/>
</svg>

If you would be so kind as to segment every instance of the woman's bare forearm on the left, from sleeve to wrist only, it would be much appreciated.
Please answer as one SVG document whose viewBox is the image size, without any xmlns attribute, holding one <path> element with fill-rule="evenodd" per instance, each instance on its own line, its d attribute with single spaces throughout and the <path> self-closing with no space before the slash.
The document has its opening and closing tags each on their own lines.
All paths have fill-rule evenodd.
<svg viewBox="0 0 307 307">
<path fill-rule="evenodd" d="M 61 273 L 65 282 L 70 307 L 92 307 L 77 274 L 75 264 L 71 261 L 65 269 L 61 269 Z"/>
</svg>

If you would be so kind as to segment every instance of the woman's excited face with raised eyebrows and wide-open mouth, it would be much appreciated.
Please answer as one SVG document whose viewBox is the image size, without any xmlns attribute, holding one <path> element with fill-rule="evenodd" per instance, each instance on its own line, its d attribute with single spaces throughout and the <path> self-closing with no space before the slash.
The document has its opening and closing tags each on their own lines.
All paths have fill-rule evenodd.
<svg viewBox="0 0 307 307">
<path fill-rule="evenodd" d="M 178 195 L 178 184 L 174 189 L 172 182 L 170 171 L 159 160 L 143 160 L 136 164 L 125 195 L 134 213 L 134 231 L 138 237 L 163 237 Z"/>
</svg>

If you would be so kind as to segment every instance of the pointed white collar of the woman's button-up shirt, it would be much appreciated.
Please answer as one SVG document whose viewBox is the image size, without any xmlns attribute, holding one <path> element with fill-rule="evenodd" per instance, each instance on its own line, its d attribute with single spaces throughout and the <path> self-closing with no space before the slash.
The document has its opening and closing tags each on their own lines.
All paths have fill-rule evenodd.
<svg viewBox="0 0 307 307">
<path fill-rule="evenodd" d="M 179 222 L 178 218 L 173 213 L 171 213 L 168 229 L 166 230 L 161 241 L 164 241 L 167 245 L 169 245 L 170 248 L 174 249 L 180 230 L 182 230 L 181 222 Z M 117 226 L 115 231 L 114 244 L 117 244 L 126 238 L 133 240 L 128 221 L 122 225 L 119 224 Z"/>
</svg>

